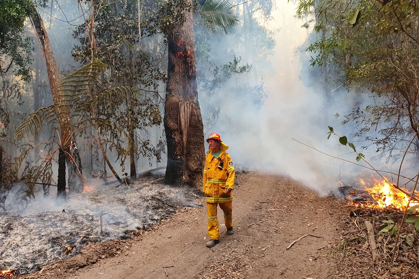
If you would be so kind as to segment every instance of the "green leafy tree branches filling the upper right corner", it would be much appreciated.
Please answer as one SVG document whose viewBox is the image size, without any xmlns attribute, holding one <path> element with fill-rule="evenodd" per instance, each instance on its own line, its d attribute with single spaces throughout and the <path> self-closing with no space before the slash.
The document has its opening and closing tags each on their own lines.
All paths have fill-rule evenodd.
<svg viewBox="0 0 419 279">
<path fill-rule="evenodd" d="M 358 128 L 354 136 L 366 137 L 377 152 L 388 156 L 415 137 L 418 142 L 418 1 L 300 0 L 297 4 L 297 16 L 312 14 L 317 18 L 314 30 L 326 30 L 326 36 L 308 48 L 315 54 L 311 64 L 327 62 L 344 69 L 343 84 L 353 94 L 371 99 L 366 106 L 354 104 L 352 112 L 343 116 L 343 123 Z M 368 136 L 374 130 L 379 137 Z"/>
</svg>

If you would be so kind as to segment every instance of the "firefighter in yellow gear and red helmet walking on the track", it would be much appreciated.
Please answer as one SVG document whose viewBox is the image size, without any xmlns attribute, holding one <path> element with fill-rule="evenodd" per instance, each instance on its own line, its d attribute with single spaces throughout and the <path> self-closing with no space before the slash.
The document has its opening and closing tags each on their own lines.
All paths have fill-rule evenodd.
<svg viewBox="0 0 419 279">
<path fill-rule="evenodd" d="M 217 207 L 224 212 L 224 222 L 227 234 L 234 233 L 232 220 L 234 165 L 226 152 L 228 146 L 221 141 L 217 133 L 211 133 L 207 138 L 209 151 L 205 160 L 203 191 L 207 199 L 208 234 L 210 241 L 207 247 L 213 247 L 220 242 L 218 231 Z"/>
</svg>

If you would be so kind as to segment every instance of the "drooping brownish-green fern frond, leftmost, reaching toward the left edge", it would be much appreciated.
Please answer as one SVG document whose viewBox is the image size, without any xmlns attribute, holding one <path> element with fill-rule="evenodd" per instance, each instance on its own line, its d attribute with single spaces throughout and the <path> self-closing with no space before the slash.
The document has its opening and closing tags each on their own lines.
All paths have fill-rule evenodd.
<svg viewBox="0 0 419 279">
<path fill-rule="evenodd" d="M 55 105 L 38 109 L 33 115 L 25 120 L 25 122 L 16 128 L 15 138 L 24 137 L 25 135 L 30 137 L 35 134 L 35 130 L 41 130 L 42 122 L 57 117 L 55 109 Z"/>
</svg>

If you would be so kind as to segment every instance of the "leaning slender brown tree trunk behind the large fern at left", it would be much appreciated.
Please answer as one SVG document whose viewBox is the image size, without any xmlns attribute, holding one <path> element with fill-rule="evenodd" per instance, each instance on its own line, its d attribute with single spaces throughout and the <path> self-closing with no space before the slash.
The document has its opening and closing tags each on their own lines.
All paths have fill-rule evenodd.
<svg viewBox="0 0 419 279">
<path fill-rule="evenodd" d="M 35 8 L 35 12 L 32 15 L 30 15 L 30 18 L 32 21 L 32 25 L 34 26 L 36 36 L 38 37 L 38 40 L 39 40 L 39 46 L 41 47 L 44 53 L 45 61 L 47 64 L 47 73 L 48 73 L 48 79 L 49 79 L 50 87 L 51 87 L 52 100 L 55 105 L 58 122 L 60 123 L 60 130 L 61 130 L 60 151 L 64 152 L 66 161 L 69 165 L 69 182 L 70 180 L 72 180 L 71 175 L 80 176 L 80 178 L 77 181 L 81 182 L 83 181 L 81 169 L 79 171 L 74 171 L 74 172 L 71 171 L 72 168 L 71 168 L 71 160 L 70 160 L 70 146 L 71 146 L 72 135 L 71 135 L 71 125 L 70 125 L 70 109 L 69 109 L 68 104 L 66 103 L 64 94 L 60 88 L 62 80 L 61 80 L 60 73 L 58 71 L 57 64 L 55 62 L 50 40 L 48 38 L 48 34 L 45 29 L 44 23 L 42 22 L 42 19 L 39 16 L 39 13 L 37 12 L 36 8 Z M 59 158 L 61 158 L 60 156 Z M 60 159 L 58 159 L 58 161 L 59 160 Z M 58 164 L 60 164 L 60 162 Z M 65 192 L 66 192 L 65 171 L 66 171 L 65 166 L 64 167 L 61 166 L 58 168 L 58 177 L 60 179 L 58 179 L 58 182 L 57 182 L 57 197 L 66 197 L 65 195 Z M 63 177 L 64 177 L 64 180 L 62 179 Z M 80 185 L 76 185 L 74 187 L 80 188 Z M 81 187 L 83 188 L 83 186 Z"/>
</svg>

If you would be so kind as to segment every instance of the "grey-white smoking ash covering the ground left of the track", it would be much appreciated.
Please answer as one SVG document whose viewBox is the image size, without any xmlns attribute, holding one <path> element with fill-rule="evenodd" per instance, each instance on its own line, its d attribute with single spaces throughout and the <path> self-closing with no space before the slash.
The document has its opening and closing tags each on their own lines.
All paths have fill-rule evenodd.
<svg viewBox="0 0 419 279">
<path fill-rule="evenodd" d="M 116 185 L 89 185 L 65 200 L 36 197 L 23 210 L 8 210 L 0 216 L 0 270 L 39 270 L 69 257 L 68 247 L 74 256 L 82 246 L 130 237 L 180 208 L 199 206 L 202 197 L 194 188 L 164 185 L 156 175 Z"/>
</svg>

